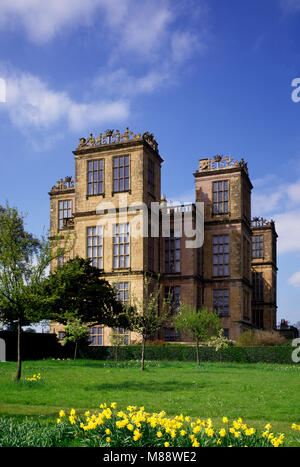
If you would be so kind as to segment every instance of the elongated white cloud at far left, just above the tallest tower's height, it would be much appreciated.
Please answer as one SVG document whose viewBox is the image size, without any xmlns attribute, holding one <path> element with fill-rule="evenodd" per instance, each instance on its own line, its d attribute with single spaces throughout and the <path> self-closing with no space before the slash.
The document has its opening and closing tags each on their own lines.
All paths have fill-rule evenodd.
<svg viewBox="0 0 300 467">
<path fill-rule="evenodd" d="M 129 115 L 125 100 L 77 102 L 66 92 L 55 91 L 38 77 L 14 73 L 6 77 L 6 109 L 11 122 L 20 129 L 49 129 L 66 122 L 71 130 L 81 130 L 101 123 L 123 121 Z"/>
</svg>

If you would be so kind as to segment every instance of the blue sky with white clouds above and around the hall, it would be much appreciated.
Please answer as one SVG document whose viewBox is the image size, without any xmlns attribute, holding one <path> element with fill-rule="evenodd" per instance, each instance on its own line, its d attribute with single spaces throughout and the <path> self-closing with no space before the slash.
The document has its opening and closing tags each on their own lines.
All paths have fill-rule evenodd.
<svg viewBox="0 0 300 467">
<path fill-rule="evenodd" d="M 299 321 L 299 41 L 300 0 L 1 0 L 0 203 L 47 230 L 79 137 L 107 128 L 154 133 L 169 199 L 194 199 L 198 159 L 243 157 L 279 234 L 278 320 Z"/>
</svg>

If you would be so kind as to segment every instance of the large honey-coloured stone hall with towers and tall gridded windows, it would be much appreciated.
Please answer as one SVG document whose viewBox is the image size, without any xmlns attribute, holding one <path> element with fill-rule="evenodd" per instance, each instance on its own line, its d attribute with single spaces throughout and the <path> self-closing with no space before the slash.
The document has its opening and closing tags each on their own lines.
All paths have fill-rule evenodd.
<svg viewBox="0 0 300 467">
<path fill-rule="evenodd" d="M 276 328 L 277 234 L 272 220 L 251 218 L 253 187 L 243 159 L 200 159 L 193 174 L 195 202 L 175 206 L 161 194 L 163 159 L 152 134 L 128 128 L 123 134 L 91 134 L 80 138 L 73 154 L 75 179 L 59 180 L 49 193 L 50 235 L 74 235 L 72 255 L 90 258 L 123 302 L 131 294 L 143 297 L 145 274 L 154 281 L 159 277 L 163 295 L 172 299 L 168 325 L 157 339 L 190 340 L 172 325 L 180 302 L 216 310 L 224 335 L 233 340 L 251 328 Z M 135 209 L 124 212 L 124 196 Z M 153 204 L 159 206 L 155 234 L 149 219 Z M 204 241 L 191 248 L 178 219 L 183 223 L 188 213 L 195 226 L 198 204 L 203 206 Z M 148 235 L 133 235 L 139 206 L 149 208 L 142 223 Z M 170 218 L 168 235 L 161 225 L 164 212 Z M 50 332 L 60 339 L 63 329 L 51 323 Z M 124 344 L 138 339 L 122 328 L 90 327 L 91 345 L 111 345 L 113 336 Z"/>
</svg>

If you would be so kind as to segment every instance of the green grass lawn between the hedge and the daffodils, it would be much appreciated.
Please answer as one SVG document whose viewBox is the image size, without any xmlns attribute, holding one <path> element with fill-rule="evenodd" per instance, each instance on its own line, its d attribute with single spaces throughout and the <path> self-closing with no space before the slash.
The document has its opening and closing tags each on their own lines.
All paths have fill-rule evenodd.
<svg viewBox="0 0 300 467">
<path fill-rule="evenodd" d="M 24 381 L 38 372 L 40 381 Z M 0 416 L 48 419 L 60 409 L 117 402 L 123 409 L 210 417 L 216 425 L 223 416 L 242 417 L 257 429 L 271 423 L 274 433 L 286 434 L 287 445 L 299 445 L 291 424 L 300 423 L 300 365 L 148 362 L 142 372 L 138 362 L 43 360 L 24 362 L 18 384 L 15 373 L 16 363 L 0 363 Z"/>
</svg>

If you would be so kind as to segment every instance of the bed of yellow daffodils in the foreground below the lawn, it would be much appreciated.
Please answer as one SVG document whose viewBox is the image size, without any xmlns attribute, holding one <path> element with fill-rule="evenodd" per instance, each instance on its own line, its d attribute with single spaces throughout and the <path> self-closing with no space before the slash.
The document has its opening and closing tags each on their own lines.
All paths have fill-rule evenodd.
<svg viewBox="0 0 300 467">
<path fill-rule="evenodd" d="M 284 434 L 275 435 L 271 425 L 258 432 L 241 418 L 230 422 L 222 419 L 222 427 L 215 428 L 212 420 L 192 420 L 183 414 L 173 418 L 166 412 L 148 413 L 144 407 L 128 406 L 118 410 L 115 402 L 101 404 L 100 410 L 77 415 L 59 412 L 57 424 L 84 446 L 110 447 L 279 447 Z M 293 424 L 292 428 L 299 429 Z"/>
</svg>

